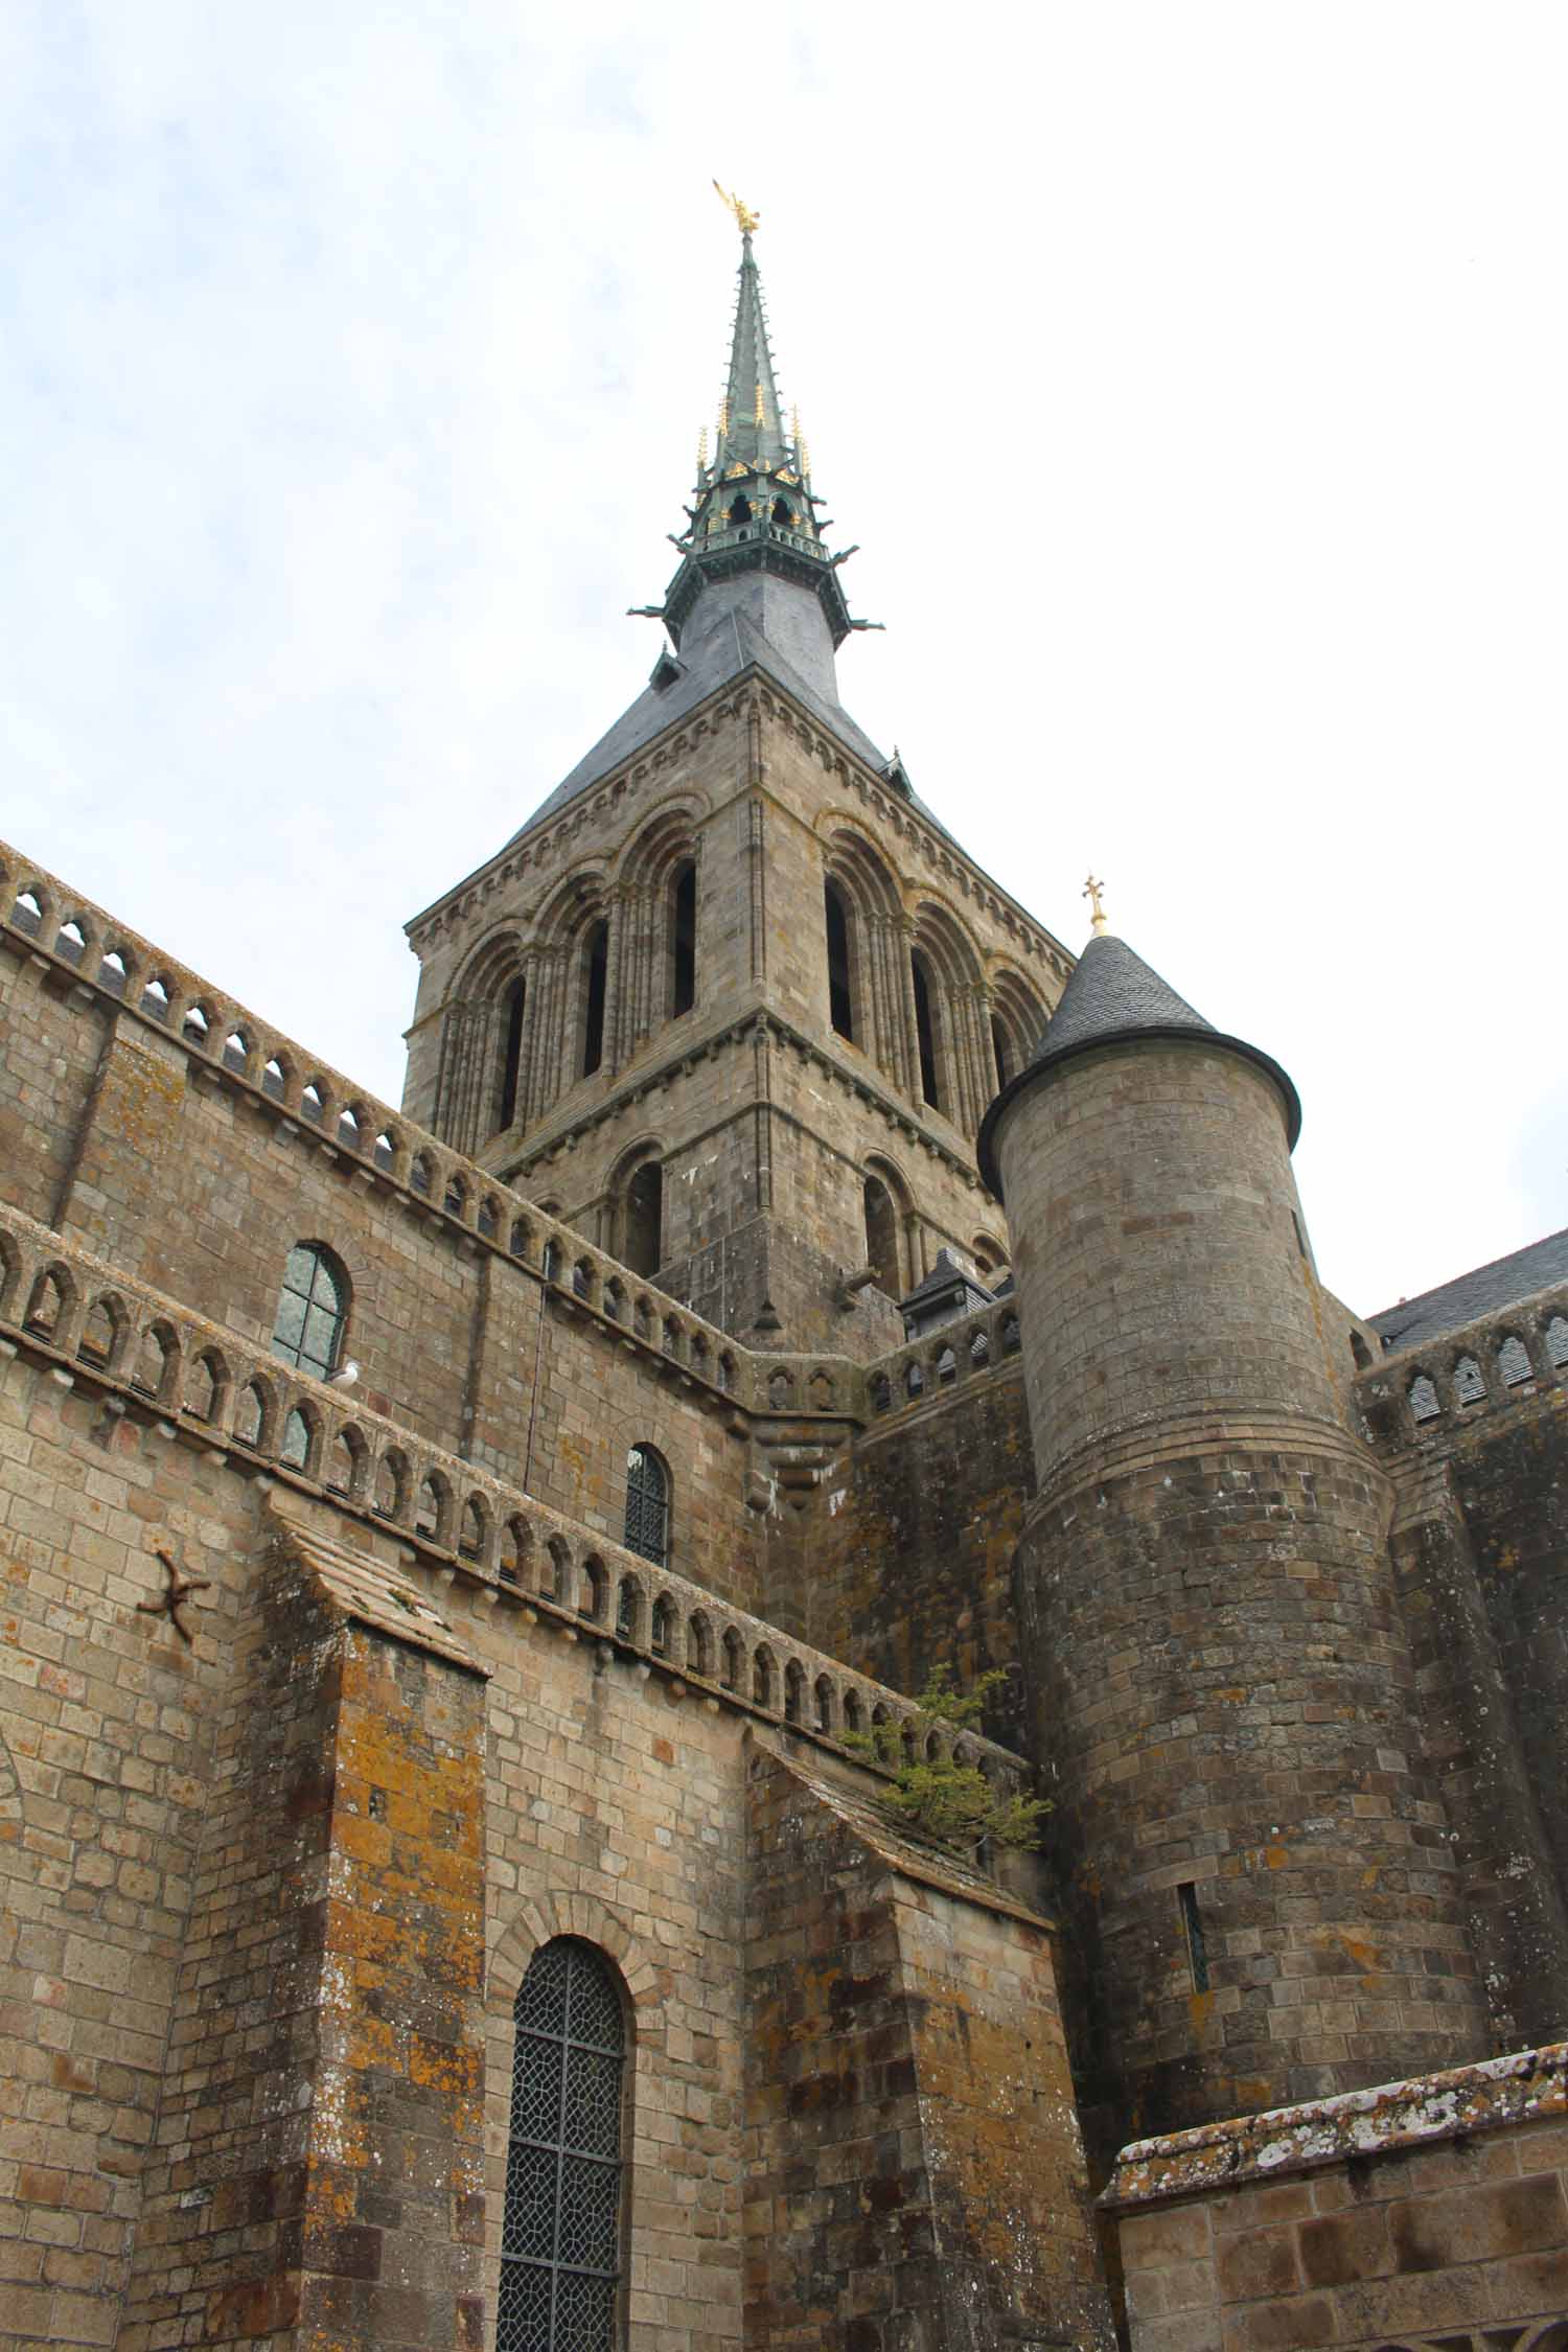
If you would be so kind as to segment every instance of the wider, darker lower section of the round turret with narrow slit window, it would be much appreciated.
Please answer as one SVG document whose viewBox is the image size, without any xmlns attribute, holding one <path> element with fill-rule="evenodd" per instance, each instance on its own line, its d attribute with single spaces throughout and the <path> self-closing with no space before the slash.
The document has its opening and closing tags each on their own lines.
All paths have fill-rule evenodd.
<svg viewBox="0 0 1568 2352">
<path fill-rule="evenodd" d="M 1215 1444 L 1051 1503 L 1027 1536 L 1048 1839 L 1100 2018 L 1084 2096 L 1110 2096 L 1112 2133 L 1488 2046 L 1366 1526 L 1371 1465 Z"/>
</svg>

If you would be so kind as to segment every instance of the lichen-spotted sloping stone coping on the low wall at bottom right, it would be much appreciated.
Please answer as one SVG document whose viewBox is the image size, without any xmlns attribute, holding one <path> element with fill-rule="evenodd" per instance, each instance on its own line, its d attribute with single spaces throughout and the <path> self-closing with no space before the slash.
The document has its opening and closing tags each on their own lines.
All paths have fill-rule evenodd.
<svg viewBox="0 0 1568 2352">
<path fill-rule="evenodd" d="M 1293 2173 L 1342 2164 L 1347 2157 L 1387 2157 L 1434 2140 L 1467 2140 L 1507 2124 L 1568 2114 L 1568 2042 L 1509 2051 L 1479 2065 L 1413 2074 L 1371 2091 L 1269 2107 L 1197 2131 L 1131 2140 L 1117 2157 L 1100 2204 L 1112 2213 L 1234 2187 L 1244 2180 L 1286 2180 Z"/>
</svg>

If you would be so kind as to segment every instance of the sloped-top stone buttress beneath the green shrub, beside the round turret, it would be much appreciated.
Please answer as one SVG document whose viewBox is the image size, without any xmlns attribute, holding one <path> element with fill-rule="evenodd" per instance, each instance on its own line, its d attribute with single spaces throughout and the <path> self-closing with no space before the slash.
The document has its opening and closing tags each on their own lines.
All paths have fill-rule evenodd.
<svg viewBox="0 0 1568 2352">
<path fill-rule="evenodd" d="M 1044 1924 L 752 1762 L 755 2352 L 1114 2343 Z"/>
</svg>

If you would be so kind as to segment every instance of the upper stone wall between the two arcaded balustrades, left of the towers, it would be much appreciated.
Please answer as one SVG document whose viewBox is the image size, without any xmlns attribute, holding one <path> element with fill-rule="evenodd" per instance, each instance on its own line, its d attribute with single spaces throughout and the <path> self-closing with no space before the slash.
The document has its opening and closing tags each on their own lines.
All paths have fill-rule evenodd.
<svg viewBox="0 0 1568 2352">
<path fill-rule="evenodd" d="M 66 1237 L 261 1348 L 289 1247 L 329 1244 L 353 1294 L 343 1352 L 357 1359 L 357 1395 L 371 1409 L 611 1541 L 623 1529 L 628 1449 L 654 1444 L 672 1472 L 675 1564 L 719 1592 L 755 1592 L 750 1449 L 719 1416 L 719 1334 L 705 1378 L 682 1381 L 658 1329 L 637 1343 L 630 1277 L 625 1329 L 611 1329 L 571 1301 L 569 1279 L 550 1291 L 536 1235 L 531 1263 L 512 1254 L 508 1214 L 489 1235 L 463 1225 L 110 997 L 61 990 L 7 955 L 0 978 L 9 981 L 0 1094 L 12 1089 L 14 1117 L 14 1089 L 31 1089 L 35 1065 L 56 1084 L 73 1068 L 96 1073 L 63 1211 L 45 1204 L 52 1178 L 12 1171 L 31 1214 L 54 1214 Z"/>
</svg>

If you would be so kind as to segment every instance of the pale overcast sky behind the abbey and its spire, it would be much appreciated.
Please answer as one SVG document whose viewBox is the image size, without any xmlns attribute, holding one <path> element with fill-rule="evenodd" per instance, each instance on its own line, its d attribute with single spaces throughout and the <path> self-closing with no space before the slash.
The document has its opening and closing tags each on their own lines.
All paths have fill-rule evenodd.
<svg viewBox="0 0 1568 2352">
<path fill-rule="evenodd" d="M 924 26 L 940 26 L 924 31 Z M 1363 1310 L 1568 1223 L 1568 9 L 9 0 L 0 830 L 381 1096 L 639 689 L 757 254 L 844 701 L 1305 1101 Z"/>
</svg>

